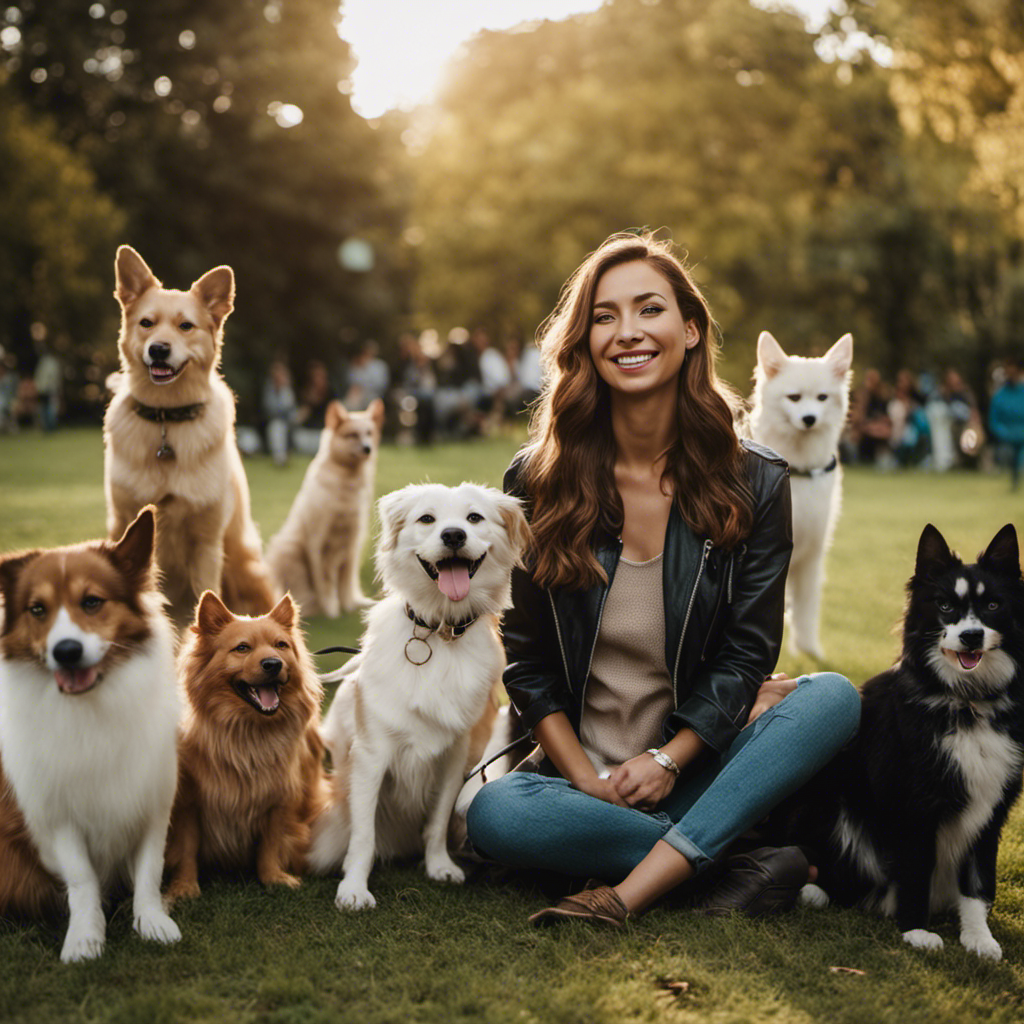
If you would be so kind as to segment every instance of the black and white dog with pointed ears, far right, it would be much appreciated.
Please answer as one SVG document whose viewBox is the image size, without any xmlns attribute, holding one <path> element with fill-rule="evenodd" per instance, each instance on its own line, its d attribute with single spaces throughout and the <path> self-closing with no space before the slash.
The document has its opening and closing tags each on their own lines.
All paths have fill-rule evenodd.
<svg viewBox="0 0 1024 1024">
<path fill-rule="evenodd" d="M 1024 765 L 1016 530 L 965 565 L 929 524 L 907 596 L 902 657 L 864 684 L 859 733 L 787 810 L 819 868 L 802 900 L 880 909 L 923 949 L 942 946 L 931 912 L 955 908 L 962 944 L 999 959 L 986 919 Z"/>
</svg>

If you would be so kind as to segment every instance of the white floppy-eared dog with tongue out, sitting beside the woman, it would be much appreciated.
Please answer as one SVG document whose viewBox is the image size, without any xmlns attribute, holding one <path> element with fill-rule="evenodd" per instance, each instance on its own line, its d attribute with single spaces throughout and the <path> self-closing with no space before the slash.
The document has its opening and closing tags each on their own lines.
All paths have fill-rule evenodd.
<svg viewBox="0 0 1024 1024">
<path fill-rule="evenodd" d="M 384 598 L 367 612 L 361 653 L 325 677 L 342 683 L 323 724 L 333 803 L 313 826 L 314 870 L 342 865 L 335 902 L 376 905 L 375 857 L 425 854 L 427 876 L 463 881 L 449 819 L 470 732 L 494 709 L 505 652 L 499 613 L 529 532 L 519 502 L 490 487 L 413 484 L 378 503 Z"/>
</svg>

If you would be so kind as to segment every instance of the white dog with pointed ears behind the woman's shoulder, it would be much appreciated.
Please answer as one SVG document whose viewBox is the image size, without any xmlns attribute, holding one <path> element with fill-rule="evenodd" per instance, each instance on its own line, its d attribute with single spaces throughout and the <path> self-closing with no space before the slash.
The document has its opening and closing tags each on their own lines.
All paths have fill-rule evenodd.
<svg viewBox="0 0 1024 1024">
<path fill-rule="evenodd" d="M 818 658 L 825 551 L 843 501 L 838 446 L 852 361 L 849 334 L 818 358 L 786 355 L 767 331 L 758 338 L 751 432 L 790 463 L 793 490 L 793 560 L 785 584 L 791 647 Z"/>
</svg>

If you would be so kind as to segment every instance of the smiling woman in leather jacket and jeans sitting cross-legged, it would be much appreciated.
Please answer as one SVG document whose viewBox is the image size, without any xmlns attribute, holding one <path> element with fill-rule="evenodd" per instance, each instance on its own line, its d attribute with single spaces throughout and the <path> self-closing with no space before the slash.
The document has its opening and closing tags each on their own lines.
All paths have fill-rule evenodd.
<svg viewBox="0 0 1024 1024">
<path fill-rule="evenodd" d="M 513 573 L 505 686 L 545 759 L 470 805 L 481 854 L 591 876 L 536 913 L 627 918 L 706 869 L 850 737 L 842 676 L 766 677 L 793 547 L 785 463 L 740 442 L 711 312 L 672 246 L 623 232 L 541 329 L 548 381 L 506 487 L 535 544 Z M 796 901 L 796 847 L 738 858 L 708 912 Z"/>
</svg>

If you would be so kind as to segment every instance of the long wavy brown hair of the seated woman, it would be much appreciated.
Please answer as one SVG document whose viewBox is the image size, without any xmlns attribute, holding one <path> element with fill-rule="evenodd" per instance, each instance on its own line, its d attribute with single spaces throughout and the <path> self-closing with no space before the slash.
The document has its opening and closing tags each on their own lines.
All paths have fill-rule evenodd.
<svg viewBox="0 0 1024 1024">
<path fill-rule="evenodd" d="M 671 243 L 649 232 L 612 234 L 572 273 L 538 330 L 547 380 L 530 421 L 523 482 L 534 575 L 545 587 L 606 582 L 591 545 L 598 531 L 622 531 L 611 403 L 591 358 L 590 329 L 601 275 L 636 260 L 670 283 L 683 318 L 700 335 L 679 374 L 678 438 L 665 453 L 663 486 L 672 487 L 690 528 L 716 546 L 732 548 L 751 529 L 753 499 L 732 425 L 733 396 L 715 369 L 718 345 L 708 304 Z"/>
</svg>

